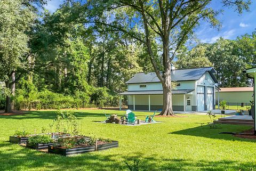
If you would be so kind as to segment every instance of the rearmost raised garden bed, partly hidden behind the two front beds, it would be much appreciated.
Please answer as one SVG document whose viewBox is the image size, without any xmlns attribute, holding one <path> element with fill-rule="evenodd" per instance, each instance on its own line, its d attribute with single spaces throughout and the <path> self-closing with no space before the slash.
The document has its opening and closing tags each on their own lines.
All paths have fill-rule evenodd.
<svg viewBox="0 0 256 171">
<path fill-rule="evenodd" d="M 59 137 L 59 136 L 70 136 L 70 134 L 67 133 L 47 133 L 47 134 L 32 134 L 32 135 L 28 135 L 26 137 L 21 137 L 21 136 L 10 136 L 9 142 L 10 143 L 14 143 L 14 144 L 26 144 L 27 140 L 29 137 L 31 136 L 36 136 L 36 135 L 50 135 L 53 137 Z"/>
</svg>

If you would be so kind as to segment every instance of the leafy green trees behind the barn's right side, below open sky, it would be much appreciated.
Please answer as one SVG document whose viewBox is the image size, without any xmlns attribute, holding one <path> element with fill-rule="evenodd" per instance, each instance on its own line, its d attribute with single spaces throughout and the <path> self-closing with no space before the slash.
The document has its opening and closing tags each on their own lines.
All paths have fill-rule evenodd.
<svg viewBox="0 0 256 171">
<path fill-rule="evenodd" d="M 199 43 L 177 55 L 178 68 L 213 66 L 220 87 L 252 86 L 243 70 L 256 66 L 256 32 L 235 40 L 219 38 L 215 43 Z"/>
</svg>

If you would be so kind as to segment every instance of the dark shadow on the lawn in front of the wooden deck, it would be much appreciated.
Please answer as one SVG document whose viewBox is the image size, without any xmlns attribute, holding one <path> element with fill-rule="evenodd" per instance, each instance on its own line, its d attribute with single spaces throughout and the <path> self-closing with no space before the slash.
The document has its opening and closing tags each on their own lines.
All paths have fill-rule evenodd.
<svg viewBox="0 0 256 171">
<path fill-rule="evenodd" d="M 221 124 L 217 128 L 210 128 L 208 125 L 204 125 L 204 126 L 198 126 L 198 127 L 171 132 L 169 134 L 200 136 L 200 137 L 206 137 L 210 139 L 223 139 L 223 140 L 231 140 L 231 141 L 237 140 L 237 141 L 256 142 L 256 140 L 241 139 L 231 134 L 219 134 L 220 132 L 242 132 L 244 131 L 244 129 L 246 129 L 244 127 L 242 128 L 243 130 L 241 130 L 241 126 L 239 125 L 228 125 L 228 124 Z"/>
</svg>

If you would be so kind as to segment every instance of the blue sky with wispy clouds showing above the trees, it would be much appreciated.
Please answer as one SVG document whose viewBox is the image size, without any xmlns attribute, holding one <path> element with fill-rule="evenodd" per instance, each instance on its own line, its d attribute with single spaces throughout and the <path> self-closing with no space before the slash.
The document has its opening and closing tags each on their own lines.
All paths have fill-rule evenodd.
<svg viewBox="0 0 256 171">
<path fill-rule="evenodd" d="M 220 9 L 220 2 L 220 0 L 213 0 L 211 7 Z M 45 8 L 53 13 L 62 3 L 63 0 L 51 0 Z M 237 36 L 251 34 L 256 29 L 256 1 L 252 0 L 250 9 L 250 12 L 238 15 L 234 9 L 225 7 L 223 14 L 218 16 L 222 22 L 221 29 L 211 28 L 209 23 L 201 22 L 201 25 L 195 30 L 197 38 L 203 43 L 214 43 L 220 37 L 235 39 Z"/>
</svg>

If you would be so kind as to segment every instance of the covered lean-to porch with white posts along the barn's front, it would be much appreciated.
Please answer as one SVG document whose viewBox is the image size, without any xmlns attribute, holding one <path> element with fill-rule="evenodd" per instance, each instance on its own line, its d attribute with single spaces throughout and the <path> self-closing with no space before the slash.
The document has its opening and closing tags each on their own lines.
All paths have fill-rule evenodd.
<svg viewBox="0 0 256 171">
<path fill-rule="evenodd" d="M 194 89 L 173 89 L 174 111 L 196 111 Z M 163 91 L 127 91 L 120 93 L 119 110 L 122 108 L 122 96 L 127 96 L 128 108 L 131 110 L 159 111 L 163 108 Z"/>
</svg>

